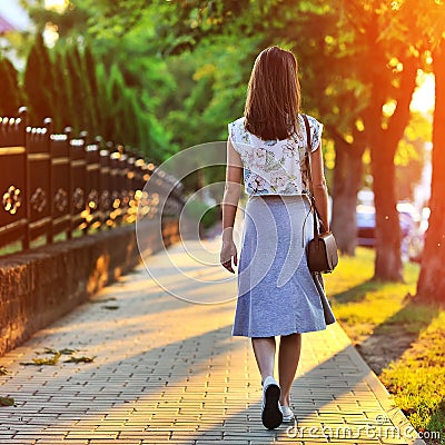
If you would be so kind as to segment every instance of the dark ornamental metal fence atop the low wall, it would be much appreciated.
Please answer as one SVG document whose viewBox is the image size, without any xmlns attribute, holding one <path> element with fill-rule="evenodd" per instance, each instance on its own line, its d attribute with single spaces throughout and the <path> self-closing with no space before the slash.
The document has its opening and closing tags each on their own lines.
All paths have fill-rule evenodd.
<svg viewBox="0 0 445 445">
<path fill-rule="evenodd" d="M 165 202 L 162 217 L 177 217 L 184 186 L 122 146 L 87 135 L 75 138 L 69 128 L 53 134 L 51 119 L 43 127 L 27 126 L 24 108 L 16 118 L 0 118 L 0 247 L 59 234 L 130 224 L 138 206 L 154 217 Z M 149 191 L 147 191 L 149 190 Z"/>
</svg>

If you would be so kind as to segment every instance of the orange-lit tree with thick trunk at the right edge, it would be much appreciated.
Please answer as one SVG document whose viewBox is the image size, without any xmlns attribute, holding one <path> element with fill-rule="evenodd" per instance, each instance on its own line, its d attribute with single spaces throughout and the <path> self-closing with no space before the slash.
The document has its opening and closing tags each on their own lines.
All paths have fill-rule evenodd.
<svg viewBox="0 0 445 445">
<path fill-rule="evenodd" d="M 442 126 L 445 119 L 445 42 L 443 23 L 445 3 L 442 0 L 399 0 L 392 3 L 397 20 L 388 27 L 388 33 L 396 33 L 405 40 L 406 48 L 421 58 L 432 59 L 436 79 L 436 100 L 433 121 L 432 194 L 431 216 L 422 256 L 417 297 L 424 300 L 444 301 L 445 281 L 442 266 L 445 261 L 445 139 Z"/>
</svg>

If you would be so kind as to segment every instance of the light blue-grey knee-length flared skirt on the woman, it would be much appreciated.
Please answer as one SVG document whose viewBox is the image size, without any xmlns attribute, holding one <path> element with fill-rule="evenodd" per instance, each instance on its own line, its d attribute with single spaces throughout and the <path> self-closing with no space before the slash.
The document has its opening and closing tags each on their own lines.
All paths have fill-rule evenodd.
<svg viewBox="0 0 445 445">
<path fill-rule="evenodd" d="M 320 274 L 310 274 L 310 204 L 301 195 L 249 196 L 238 261 L 234 336 L 322 330 L 335 322 Z"/>
</svg>

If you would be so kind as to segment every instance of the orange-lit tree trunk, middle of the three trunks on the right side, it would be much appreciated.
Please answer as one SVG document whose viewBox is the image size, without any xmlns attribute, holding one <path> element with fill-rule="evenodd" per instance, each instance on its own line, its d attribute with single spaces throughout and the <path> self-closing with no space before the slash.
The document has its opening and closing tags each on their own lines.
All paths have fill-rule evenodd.
<svg viewBox="0 0 445 445">
<path fill-rule="evenodd" d="M 375 17 L 375 21 L 377 20 L 378 17 Z M 416 86 L 417 61 L 409 57 L 404 47 L 396 46 L 395 41 L 379 40 L 379 29 L 374 23 L 372 21 L 367 28 L 367 32 L 373 37 L 373 44 L 367 52 L 367 66 L 370 67 L 373 81 L 372 101 L 364 123 L 370 147 L 376 208 L 375 278 L 397 281 L 403 277 L 394 157 L 409 121 L 409 103 Z M 398 76 L 394 76 L 388 68 L 394 57 L 397 57 L 403 66 Z M 397 87 L 394 87 L 394 80 L 398 80 Z M 396 108 L 390 116 L 385 116 L 385 106 L 388 102 L 394 103 Z"/>
</svg>

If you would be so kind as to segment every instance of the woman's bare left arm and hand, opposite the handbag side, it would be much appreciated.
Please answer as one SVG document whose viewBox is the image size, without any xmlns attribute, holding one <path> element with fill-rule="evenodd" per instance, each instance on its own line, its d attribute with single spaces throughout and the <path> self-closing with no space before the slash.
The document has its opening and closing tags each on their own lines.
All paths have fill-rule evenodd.
<svg viewBox="0 0 445 445">
<path fill-rule="evenodd" d="M 220 263 L 222 266 L 235 274 L 231 265 L 234 258 L 235 266 L 238 265 L 237 249 L 234 243 L 234 224 L 241 194 L 243 161 L 239 154 L 235 150 L 230 138 L 227 140 L 227 167 L 226 184 L 221 201 L 222 209 L 222 247 Z"/>
</svg>

